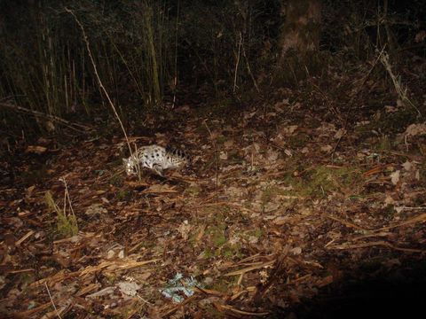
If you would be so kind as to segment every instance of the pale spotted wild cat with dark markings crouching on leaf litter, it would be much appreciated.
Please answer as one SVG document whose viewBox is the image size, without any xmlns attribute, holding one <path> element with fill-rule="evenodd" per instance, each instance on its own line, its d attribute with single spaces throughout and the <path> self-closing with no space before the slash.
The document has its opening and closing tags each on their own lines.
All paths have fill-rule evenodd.
<svg viewBox="0 0 426 319">
<path fill-rule="evenodd" d="M 177 149 L 166 149 L 159 145 L 148 145 L 138 148 L 128 159 L 122 159 L 127 175 L 138 175 L 138 169 L 151 168 L 162 176 L 167 168 L 181 168 L 189 163 L 189 156 Z"/>
</svg>

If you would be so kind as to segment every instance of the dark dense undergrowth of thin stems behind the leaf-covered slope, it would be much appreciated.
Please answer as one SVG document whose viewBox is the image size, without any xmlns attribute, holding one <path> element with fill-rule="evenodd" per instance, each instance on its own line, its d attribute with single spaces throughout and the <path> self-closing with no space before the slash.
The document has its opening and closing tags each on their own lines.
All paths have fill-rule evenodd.
<svg viewBox="0 0 426 319">
<path fill-rule="evenodd" d="M 145 117 L 188 101 L 201 104 L 206 98 L 247 104 L 261 93 L 270 94 L 271 83 L 277 84 L 277 39 L 285 18 L 278 0 L 4 2 L 1 10 L 0 117 L 4 135 L 12 140 L 22 131 L 27 136 L 58 132 L 67 121 L 93 124 L 99 113 L 111 113 L 85 40 L 124 122 L 135 113 Z M 339 80 L 334 75 L 351 78 L 364 68 L 372 73 L 368 81 L 377 82 L 374 100 L 381 98 L 377 94 L 386 96 L 394 89 L 389 72 L 381 64 L 368 68 L 383 49 L 390 54 L 394 77 L 404 80 L 406 53 L 424 57 L 419 45 L 424 41 L 422 10 L 405 11 L 393 2 L 378 7 L 366 1 L 324 2 L 316 63 L 280 76 L 287 79 L 280 85 L 298 87 L 319 76 L 328 81 L 308 94 L 312 89 L 323 94 L 335 88 Z M 424 76 L 418 80 L 424 85 Z M 351 96 L 353 84 L 342 83 L 335 95 Z"/>
</svg>

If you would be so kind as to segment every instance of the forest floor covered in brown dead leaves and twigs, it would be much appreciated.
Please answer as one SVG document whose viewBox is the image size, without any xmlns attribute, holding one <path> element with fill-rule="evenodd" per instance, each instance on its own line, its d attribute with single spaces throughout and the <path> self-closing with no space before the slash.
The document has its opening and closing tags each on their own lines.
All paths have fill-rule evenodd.
<svg viewBox="0 0 426 319">
<path fill-rule="evenodd" d="M 1 163 L 0 313 L 326 318 L 422 306 L 426 126 L 375 82 L 348 89 L 361 74 L 330 73 L 335 96 L 312 82 L 133 123 L 144 130 L 131 143 L 192 156 L 165 177 L 126 176 L 119 133 L 22 144 Z"/>
</svg>

